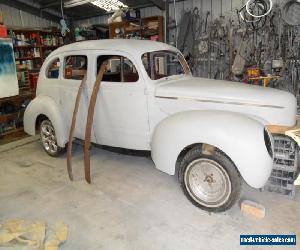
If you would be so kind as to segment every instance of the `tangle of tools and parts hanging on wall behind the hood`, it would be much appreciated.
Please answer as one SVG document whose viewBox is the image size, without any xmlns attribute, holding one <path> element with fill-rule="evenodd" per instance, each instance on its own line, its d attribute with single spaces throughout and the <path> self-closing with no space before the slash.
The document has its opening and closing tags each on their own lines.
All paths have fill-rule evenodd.
<svg viewBox="0 0 300 250">
<path fill-rule="evenodd" d="M 196 7 L 175 27 L 174 44 L 194 75 L 289 91 L 300 114 L 300 1 L 273 2 L 249 0 L 216 19 Z"/>
</svg>

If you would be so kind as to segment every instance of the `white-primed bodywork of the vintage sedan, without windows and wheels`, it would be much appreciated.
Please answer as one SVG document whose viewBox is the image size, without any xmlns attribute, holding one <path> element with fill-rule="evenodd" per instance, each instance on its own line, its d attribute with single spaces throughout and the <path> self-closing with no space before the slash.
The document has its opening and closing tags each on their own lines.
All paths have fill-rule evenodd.
<svg viewBox="0 0 300 250">
<path fill-rule="evenodd" d="M 249 185 L 262 187 L 273 163 L 265 146 L 264 126 L 293 126 L 295 98 L 279 90 L 189 75 L 152 81 L 141 56 L 156 50 L 180 53 L 163 43 L 132 40 L 87 41 L 55 50 L 41 69 L 38 96 L 26 109 L 25 131 L 34 134 L 36 116 L 44 113 L 54 124 L 58 144 L 64 146 L 67 142 L 80 81 L 63 79 L 62 67 L 59 79 L 47 80 L 45 69 L 55 57 L 63 61 L 66 55 L 87 55 L 85 98 L 89 99 L 97 56 L 123 55 L 135 65 L 139 81 L 102 82 L 94 118 L 94 143 L 151 150 L 156 167 L 171 175 L 179 153 L 186 146 L 207 143 L 227 154 Z M 76 131 L 80 139 L 84 139 L 87 105 L 86 100 L 81 102 L 78 113 Z"/>
</svg>

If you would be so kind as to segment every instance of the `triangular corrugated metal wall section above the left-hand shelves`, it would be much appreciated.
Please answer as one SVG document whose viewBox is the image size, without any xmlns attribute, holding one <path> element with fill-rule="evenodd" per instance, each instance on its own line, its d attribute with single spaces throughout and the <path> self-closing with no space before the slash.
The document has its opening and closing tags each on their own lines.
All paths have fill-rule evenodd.
<svg viewBox="0 0 300 250">
<path fill-rule="evenodd" d="M 0 4 L 0 11 L 3 12 L 4 23 L 8 27 L 45 28 L 49 26 L 58 26 L 58 24 L 53 21 L 31 15 L 30 13 L 12 8 L 7 5 Z"/>
</svg>

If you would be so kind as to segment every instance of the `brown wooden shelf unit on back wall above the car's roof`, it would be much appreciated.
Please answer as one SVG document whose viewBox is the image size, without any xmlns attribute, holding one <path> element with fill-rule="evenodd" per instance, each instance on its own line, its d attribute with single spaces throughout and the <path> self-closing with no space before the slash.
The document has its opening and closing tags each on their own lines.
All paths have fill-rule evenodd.
<svg viewBox="0 0 300 250">
<path fill-rule="evenodd" d="M 145 17 L 109 24 L 109 38 L 135 38 L 164 42 L 162 16 Z"/>
</svg>

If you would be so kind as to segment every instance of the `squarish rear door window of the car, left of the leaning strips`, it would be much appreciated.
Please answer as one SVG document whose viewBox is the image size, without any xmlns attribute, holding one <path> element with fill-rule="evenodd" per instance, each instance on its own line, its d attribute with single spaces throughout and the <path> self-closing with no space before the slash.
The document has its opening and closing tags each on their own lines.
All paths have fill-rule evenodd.
<svg viewBox="0 0 300 250">
<path fill-rule="evenodd" d="M 67 56 L 64 63 L 66 79 L 82 80 L 87 71 L 87 56 Z"/>
</svg>

